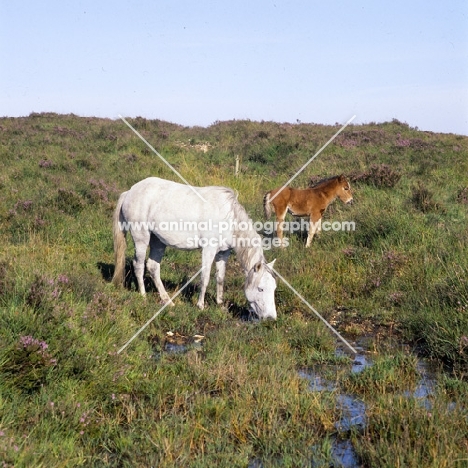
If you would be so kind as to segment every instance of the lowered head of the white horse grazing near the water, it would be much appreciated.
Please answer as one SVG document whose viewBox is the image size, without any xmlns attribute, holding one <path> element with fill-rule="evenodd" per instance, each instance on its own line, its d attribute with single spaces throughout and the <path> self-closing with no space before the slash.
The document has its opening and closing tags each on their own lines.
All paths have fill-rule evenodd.
<svg viewBox="0 0 468 468">
<path fill-rule="evenodd" d="M 256 263 L 248 272 L 245 281 L 245 297 L 250 308 L 260 319 L 276 320 L 276 280 L 272 271 L 274 263 L 274 260 L 268 265 Z"/>
</svg>

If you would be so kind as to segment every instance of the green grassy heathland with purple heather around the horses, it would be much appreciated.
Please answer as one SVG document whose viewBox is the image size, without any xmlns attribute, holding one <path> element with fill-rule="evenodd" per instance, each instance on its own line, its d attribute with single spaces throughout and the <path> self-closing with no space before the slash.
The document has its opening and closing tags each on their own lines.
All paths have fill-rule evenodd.
<svg viewBox="0 0 468 468">
<path fill-rule="evenodd" d="M 263 194 L 338 129 L 129 121 L 193 184 L 236 189 L 254 220 Z M 3 466 L 336 466 L 337 435 L 351 437 L 364 466 L 466 466 L 466 137 L 399 121 L 350 125 L 293 183 L 352 181 L 355 204 L 336 201 L 324 219 L 354 220 L 355 231 L 322 232 L 308 250 L 295 233 L 287 249 L 265 252 L 340 332 L 373 337 L 373 366 L 352 374 L 281 281 L 276 323 L 241 319 L 235 256 L 226 310 L 214 280 L 204 311 L 190 287 L 117 354 L 160 303 L 149 283 L 146 300 L 134 284 L 110 284 L 112 211 L 135 182 L 175 175 L 120 121 L 31 114 L 0 119 L 0 132 Z M 168 249 L 168 291 L 199 262 L 199 252 Z M 203 346 L 167 353 L 168 331 L 203 335 Z M 404 394 L 418 380 L 416 352 L 440 367 L 429 409 Z M 315 366 L 338 369 L 339 390 L 311 392 L 298 370 Z M 337 434 L 339 391 L 365 402 L 364 428 Z"/>
</svg>

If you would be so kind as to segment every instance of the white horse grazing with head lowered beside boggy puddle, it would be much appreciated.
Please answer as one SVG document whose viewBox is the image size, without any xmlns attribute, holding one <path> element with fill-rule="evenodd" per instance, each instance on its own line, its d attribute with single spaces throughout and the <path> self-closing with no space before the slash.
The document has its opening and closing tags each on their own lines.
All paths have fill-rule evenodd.
<svg viewBox="0 0 468 468">
<path fill-rule="evenodd" d="M 161 299 L 170 305 L 173 303 L 160 277 L 164 250 L 167 246 L 184 250 L 201 248 L 203 269 L 197 305 L 204 308 L 213 260 L 216 262 L 216 302 L 222 304 L 226 262 L 234 249 L 246 276 L 244 291 L 251 309 L 261 319 L 276 319 L 274 261 L 266 263 L 262 239 L 233 190 L 190 187 L 149 177 L 120 195 L 114 211 L 113 231 L 115 272 L 112 282 L 115 285 L 121 285 L 124 280 L 126 233 L 130 231 L 135 244 L 133 266 L 142 295 L 146 294 L 143 275 L 148 244 L 146 267 Z"/>
</svg>

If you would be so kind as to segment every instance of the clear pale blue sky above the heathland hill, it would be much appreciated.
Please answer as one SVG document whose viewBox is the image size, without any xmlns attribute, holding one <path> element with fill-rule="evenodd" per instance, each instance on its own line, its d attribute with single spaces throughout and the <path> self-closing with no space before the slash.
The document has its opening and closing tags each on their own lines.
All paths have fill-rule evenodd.
<svg viewBox="0 0 468 468">
<path fill-rule="evenodd" d="M 466 0 L 0 0 L 0 116 L 468 135 Z"/>
</svg>

